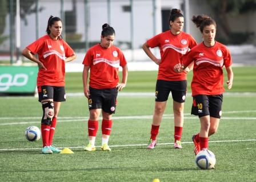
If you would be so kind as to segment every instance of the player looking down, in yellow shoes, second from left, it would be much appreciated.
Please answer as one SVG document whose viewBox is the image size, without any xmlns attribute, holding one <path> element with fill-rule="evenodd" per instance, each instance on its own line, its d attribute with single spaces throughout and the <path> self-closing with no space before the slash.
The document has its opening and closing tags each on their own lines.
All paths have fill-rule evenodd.
<svg viewBox="0 0 256 182">
<path fill-rule="evenodd" d="M 89 144 L 86 151 L 95 151 L 95 137 L 98 120 L 102 110 L 102 146 L 101 150 L 111 151 L 108 141 L 112 128 L 112 114 L 117 105 L 117 93 L 127 82 L 128 68 L 122 51 L 113 46 L 115 30 L 105 23 L 102 26 L 101 43 L 91 47 L 83 60 L 83 92 L 88 98 L 90 118 L 88 120 Z M 122 82 L 118 84 L 118 69 L 122 67 Z M 87 86 L 90 69 L 89 88 Z"/>
</svg>

